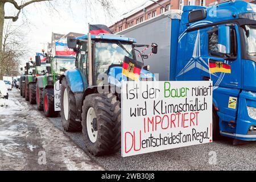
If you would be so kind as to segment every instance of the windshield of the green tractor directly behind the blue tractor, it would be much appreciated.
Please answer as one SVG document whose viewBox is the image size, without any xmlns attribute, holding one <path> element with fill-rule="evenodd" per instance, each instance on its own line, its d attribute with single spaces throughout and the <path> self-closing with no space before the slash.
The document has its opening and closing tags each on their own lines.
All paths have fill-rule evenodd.
<svg viewBox="0 0 256 182">
<path fill-rule="evenodd" d="M 53 59 L 53 70 L 57 75 L 63 75 L 69 69 L 75 69 L 76 59 Z"/>
</svg>

